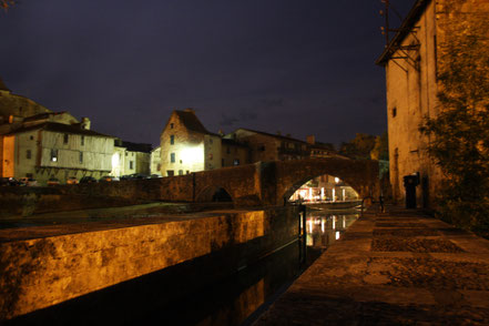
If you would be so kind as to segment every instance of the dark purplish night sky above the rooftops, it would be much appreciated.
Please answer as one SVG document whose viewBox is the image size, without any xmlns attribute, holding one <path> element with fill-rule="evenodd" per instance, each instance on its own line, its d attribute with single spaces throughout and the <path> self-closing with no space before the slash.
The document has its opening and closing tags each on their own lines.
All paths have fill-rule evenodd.
<svg viewBox="0 0 489 326">
<path fill-rule="evenodd" d="M 406 14 L 414 0 L 391 0 Z M 172 110 L 338 144 L 386 130 L 380 0 L 22 0 L 0 12 L 13 93 L 157 145 Z M 393 17 L 393 26 L 400 23 Z"/>
</svg>

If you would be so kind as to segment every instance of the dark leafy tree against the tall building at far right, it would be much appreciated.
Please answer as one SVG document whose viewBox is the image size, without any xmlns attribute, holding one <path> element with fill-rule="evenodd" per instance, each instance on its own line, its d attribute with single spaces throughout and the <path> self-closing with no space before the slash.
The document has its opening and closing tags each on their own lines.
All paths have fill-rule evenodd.
<svg viewBox="0 0 489 326">
<path fill-rule="evenodd" d="M 483 236 L 489 236 L 488 31 L 487 19 L 447 27 L 439 55 L 441 110 L 420 126 L 445 175 L 439 216 Z"/>
</svg>

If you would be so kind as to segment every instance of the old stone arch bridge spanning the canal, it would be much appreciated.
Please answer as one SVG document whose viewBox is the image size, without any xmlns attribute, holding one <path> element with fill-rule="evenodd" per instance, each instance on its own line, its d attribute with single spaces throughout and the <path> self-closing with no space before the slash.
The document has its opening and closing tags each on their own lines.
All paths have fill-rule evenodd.
<svg viewBox="0 0 489 326">
<path fill-rule="evenodd" d="M 186 175 L 67 186 L 67 192 L 169 202 L 210 202 L 224 189 L 235 206 L 283 205 L 307 181 L 329 174 L 350 185 L 360 197 L 378 196 L 378 162 L 305 159 L 258 162 Z M 77 189 L 77 190 L 75 190 Z"/>
</svg>

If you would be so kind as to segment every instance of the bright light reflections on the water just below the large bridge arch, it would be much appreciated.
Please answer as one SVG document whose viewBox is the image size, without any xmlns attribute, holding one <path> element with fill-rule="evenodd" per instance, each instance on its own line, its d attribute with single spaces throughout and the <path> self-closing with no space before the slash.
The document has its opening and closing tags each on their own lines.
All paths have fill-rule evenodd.
<svg viewBox="0 0 489 326">
<path fill-rule="evenodd" d="M 332 214 L 328 211 L 309 211 L 306 217 L 307 246 L 326 249 L 339 240 L 358 214 Z"/>
</svg>

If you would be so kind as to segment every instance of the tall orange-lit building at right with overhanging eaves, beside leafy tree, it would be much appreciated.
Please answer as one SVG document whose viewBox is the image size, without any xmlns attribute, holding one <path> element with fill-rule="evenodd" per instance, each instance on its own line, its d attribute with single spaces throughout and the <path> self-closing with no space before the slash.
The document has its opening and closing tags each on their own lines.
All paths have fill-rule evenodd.
<svg viewBox="0 0 489 326">
<path fill-rule="evenodd" d="M 436 200 L 442 175 L 419 126 L 441 110 L 437 74 L 447 61 L 444 43 L 463 38 L 468 22 L 488 17 L 489 0 L 417 0 L 376 62 L 386 69 L 390 183 L 398 201 L 405 197 L 403 177 L 416 173 L 418 205 L 428 207 Z"/>
</svg>

